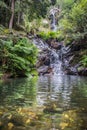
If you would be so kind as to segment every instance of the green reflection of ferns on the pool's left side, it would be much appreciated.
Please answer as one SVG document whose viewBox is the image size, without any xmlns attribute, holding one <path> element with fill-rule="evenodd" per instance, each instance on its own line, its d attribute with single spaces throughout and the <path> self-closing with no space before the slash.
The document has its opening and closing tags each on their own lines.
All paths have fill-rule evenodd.
<svg viewBox="0 0 87 130">
<path fill-rule="evenodd" d="M 32 105 L 36 100 L 36 79 L 10 79 L 0 84 L 0 106 Z"/>
</svg>

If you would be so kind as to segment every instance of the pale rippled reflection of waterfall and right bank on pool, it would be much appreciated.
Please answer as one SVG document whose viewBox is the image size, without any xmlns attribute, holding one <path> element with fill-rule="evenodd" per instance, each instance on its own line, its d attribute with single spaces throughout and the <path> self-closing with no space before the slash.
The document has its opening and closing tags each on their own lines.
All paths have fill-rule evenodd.
<svg viewBox="0 0 87 130">
<path fill-rule="evenodd" d="M 86 99 L 86 87 L 87 78 L 84 77 L 59 75 L 40 77 L 38 83 L 40 94 L 38 96 L 41 96 L 44 103 L 46 103 L 45 99 L 49 99 L 50 101 L 57 101 L 62 105 L 61 107 L 67 108 L 72 105 L 74 108 L 73 103 L 75 104 L 76 100 L 79 102 L 79 99 Z"/>
</svg>

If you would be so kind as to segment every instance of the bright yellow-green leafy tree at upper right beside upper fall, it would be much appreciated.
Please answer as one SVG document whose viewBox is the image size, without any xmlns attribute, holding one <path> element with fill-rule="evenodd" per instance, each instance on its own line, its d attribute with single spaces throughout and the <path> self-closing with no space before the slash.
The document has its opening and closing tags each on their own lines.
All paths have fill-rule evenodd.
<svg viewBox="0 0 87 130">
<path fill-rule="evenodd" d="M 87 0 L 75 3 L 71 11 L 60 20 L 59 27 L 65 41 L 81 41 L 87 38 Z"/>
</svg>

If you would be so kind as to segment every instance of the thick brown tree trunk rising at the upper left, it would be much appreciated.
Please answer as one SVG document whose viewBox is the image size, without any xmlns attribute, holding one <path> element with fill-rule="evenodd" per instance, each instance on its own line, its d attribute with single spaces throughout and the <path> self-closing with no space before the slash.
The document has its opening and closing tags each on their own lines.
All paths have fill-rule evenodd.
<svg viewBox="0 0 87 130">
<path fill-rule="evenodd" d="M 9 22 L 9 29 L 11 30 L 13 27 L 13 20 L 14 20 L 14 9 L 15 9 L 15 0 L 11 0 L 11 18 Z"/>
</svg>

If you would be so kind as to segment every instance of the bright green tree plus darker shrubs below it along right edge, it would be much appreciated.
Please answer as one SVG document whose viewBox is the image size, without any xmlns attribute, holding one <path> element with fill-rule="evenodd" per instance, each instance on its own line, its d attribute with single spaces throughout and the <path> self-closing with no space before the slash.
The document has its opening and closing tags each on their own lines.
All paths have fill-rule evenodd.
<svg viewBox="0 0 87 130">
<path fill-rule="evenodd" d="M 73 0 L 71 1 L 73 2 Z M 61 34 L 64 36 L 66 44 L 74 42 L 78 48 L 75 50 L 75 53 L 77 51 L 78 54 L 73 62 L 82 63 L 82 66 L 87 67 L 87 0 L 77 0 L 68 8 L 71 9 L 67 11 L 66 6 L 63 18 L 59 21 Z"/>
</svg>

